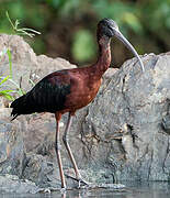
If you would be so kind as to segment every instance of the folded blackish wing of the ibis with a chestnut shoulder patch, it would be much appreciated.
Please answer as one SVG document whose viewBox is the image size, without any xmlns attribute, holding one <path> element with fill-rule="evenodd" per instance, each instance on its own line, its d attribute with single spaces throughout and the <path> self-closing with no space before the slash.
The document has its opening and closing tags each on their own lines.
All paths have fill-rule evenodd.
<svg viewBox="0 0 170 198">
<path fill-rule="evenodd" d="M 26 95 L 11 105 L 13 116 L 33 112 L 56 112 L 65 108 L 65 100 L 70 92 L 70 79 L 67 72 L 56 72 L 33 87 Z"/>
</svg>

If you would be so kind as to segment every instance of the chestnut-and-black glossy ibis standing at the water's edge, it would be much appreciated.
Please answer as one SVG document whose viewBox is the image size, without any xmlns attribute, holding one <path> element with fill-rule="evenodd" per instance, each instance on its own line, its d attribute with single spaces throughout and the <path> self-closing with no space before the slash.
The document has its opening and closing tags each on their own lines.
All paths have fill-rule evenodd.
<svg viewBox="0 0 170 198">
<path fill-rule="evenodd" d="M 133 47 L 118 30 L 118 25 L 112 19 L 102 19 L 97 28 L 97 42 L 99 55 L 97 62 L 90 66 L 63 69 L 54 72 L 39 80 L 29 92 L 15 99 L 11 103 L 11 116 L 14 120 L 20 114 L 34 112 L 50 112 L 56 119 L 55 151 L 59 167 L 61 189 L 67 189 L 66 178 L 60 156 L 59 121 L 64 113 L 68 113 L 63 142 L 66 146 L 71 164 L 75 169 L 76 180 L 80 185 L 88 185 L 82 179 L 71 152 L 68 133 L 72 118 L 77 110 L 88 106 L 97 96 L 101 86 L 102 76 L 111 64 L 111 38 L 117 37 L 137 57 L 141 72 L 145 72 L 144 64 Z"/>
</svg>

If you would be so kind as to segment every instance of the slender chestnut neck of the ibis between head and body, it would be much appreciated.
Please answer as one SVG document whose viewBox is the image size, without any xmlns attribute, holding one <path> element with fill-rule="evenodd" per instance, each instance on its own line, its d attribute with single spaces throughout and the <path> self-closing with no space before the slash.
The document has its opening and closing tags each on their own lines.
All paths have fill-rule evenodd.
<svg viewBox="0 0 170 198">
<path fill-rule="evenodd" d="M 93 66 L 97 75 L 101 78 L 104 72 L 110 67 L 111 64 L 111 38 L 102 36 L 99 41 L 99 57 Z"/>
</svg>

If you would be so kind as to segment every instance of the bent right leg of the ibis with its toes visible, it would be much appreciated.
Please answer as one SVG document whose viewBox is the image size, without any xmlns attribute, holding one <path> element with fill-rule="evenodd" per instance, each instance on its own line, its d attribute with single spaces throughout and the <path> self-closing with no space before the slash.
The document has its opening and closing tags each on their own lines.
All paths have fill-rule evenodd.
<svg viewBox="0 0 170 198">
<path fill-rule="evenodd" d="M 70 157 L 70 160 L 71 160 L 71 163 L 72 163 L 72 165 L 73 165 L 75 173 L 76 173 L 76 178 L 72 178 L 72 177 L 70 177 L 70 178 L 78 180 L 78 182 L 79 182 L 79 187 L 80 187 L 80 183 L 83 183 L 83 184 L 86 184 L 86 185 L 88 185 L 88 183 L 86 183 L 86 182 L 81 178 L 81 175 L 80 175 L 80 173 L 79 173 L 79 169 L 78 169 L 77 163 L 76 163 L 76 161 L 75 161 L 75 157 L 73 157 L 73 155 L 72 155 L 71 148 L 70 148 L 70 146 L 69 146 L 69 144 L 68 144 L 67 133 L 68 133 L 69 130 L 70 130 L 71 121 L 72 121 L 72 116 L 71 116 L 71 113 L 69 113 L 68 122 L 67 122 L 66 130 L 65 130 L 65 133 L 64 133 L 64 136 L 63 136 L 63 141 L 64 141 L 64 144 L 65 144 L 66 150 L 67 150 L 67 152 L 68 152 L 68 155 L 69 155 L 69 157 Z"/>
</svg>

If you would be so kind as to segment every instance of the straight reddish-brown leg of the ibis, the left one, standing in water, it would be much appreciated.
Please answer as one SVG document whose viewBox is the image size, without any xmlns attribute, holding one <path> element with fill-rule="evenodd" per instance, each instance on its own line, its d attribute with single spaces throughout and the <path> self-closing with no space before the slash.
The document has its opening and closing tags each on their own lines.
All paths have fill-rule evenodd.
<svg viewBox="0 0 170 198">
<path fill-rule="evenodd" d="M 56 150 L 58 167 L 59 167 L 59 174 L 60 174 L 60 179 L 61 179 L 61 188 L 66 189 L 66 180 L 65 180 L 63 163 L 61 163 L 61 158 L 60 158 L 60 148 L 61 148 L 61 145 L 59 143 L 59 120 L 60 120 L 60 118 L 61 118 L 61 116 L 56 114 L 56 141 L 55 141 L 55 150 Z"/>
</svg>

